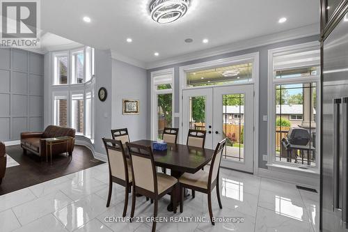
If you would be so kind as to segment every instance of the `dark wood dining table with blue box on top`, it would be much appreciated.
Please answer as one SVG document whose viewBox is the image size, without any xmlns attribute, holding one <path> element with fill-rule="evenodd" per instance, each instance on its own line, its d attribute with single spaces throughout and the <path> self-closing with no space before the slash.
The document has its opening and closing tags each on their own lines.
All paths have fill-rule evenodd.
<svg viewBox="0 0 348 232">
<path fill-rule="evenodd" d="M 180 178 L 184 173 L 196 173 L 205 165 L 207 165 L 212 156 L 214 155 L 214 150 L 207 148 L 197 148 L 193 146 L 187 146 L 182 144 L 167 144 L 167 150 L 154 150 L 153 143 L 155 141 L 151 140 L 139 140 L 132 141 L 132 144 L 139 144 L 142 146 L 151 146 L 155 165 L 157 167 L 163 167 L 166 169 L 171 169 L 171 176 L 175 178 Z M 179 190 L 176 192 L 176 196 L 179 196 Z M 177 197 L 177 199 L 180 199 Z M 178 204 L 180 201 L 177 202 Z M 173 211 L 173 199 L 168 205 L 167 209 Z"/>
</svg>

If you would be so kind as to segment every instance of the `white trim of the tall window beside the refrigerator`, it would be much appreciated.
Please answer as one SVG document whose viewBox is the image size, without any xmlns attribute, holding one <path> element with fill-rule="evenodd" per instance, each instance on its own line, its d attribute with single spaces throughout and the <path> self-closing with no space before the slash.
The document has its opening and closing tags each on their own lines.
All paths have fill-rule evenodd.
<svg viewBox="0 0 348 232">
<path fill-rule="evenodd" d="M 267 147 L 267 153 L 268 153 L 268 160 L 267 160 L 267 166 L 270 169 L 283 169 L 286 171 L 289 168 L 295 168 L 298 171 L 301 171 L 303 173 L 308 173 L 310 171 L 314 171 L 315 173 L 319 173 L 319 167 L 320 167 L 320 104 L 317 104 L 317 146 L 316 146 L 316 161 L 315 161 L 315 167 L 308 167 L 306 165 L 299 165 L 299 164 L 293 164 L 293 163 L 286 163 L 286 162 L 278 162 L 276 161 L 276 156 L 274 153 L 274 147 L 275 147 L 275 130 L 276 130 L 276 105 L 274 102 L 276 102 L 276 93 L 275 88 L 276 85 L 279 84 L 306 84 L 306 83 L 315 83 L 317 88 L 317 96 L 320 96 L 321 88 L 320 88 L 320 75 L 310 76 L 310 77 L 294 77 L 294 78 L 287 78 L 287 79 L 274 79 L 274 68 L 273 68 L 273 57 L 274 54 L 278 54 L 279 52 L 291 52 L 291 51 L 301 51 L 301 49 L 305 50 L 308 49 L 308 47 L 316 47 L 317 49 L 320 49 L 319 42 L 306 42 L 299 45 L 292 45 L 287 47 L 279 47 L 276 49 L 270 49 L 268 51 L 268 130 L 267 130 L 267 137 L 268 137 L 268 147 Z M 317 98 L 317 103 L 319 103 L 319 98 Z M 300 167 L 306 166 L 306 169 L 301 169 Z"/>
</svg>

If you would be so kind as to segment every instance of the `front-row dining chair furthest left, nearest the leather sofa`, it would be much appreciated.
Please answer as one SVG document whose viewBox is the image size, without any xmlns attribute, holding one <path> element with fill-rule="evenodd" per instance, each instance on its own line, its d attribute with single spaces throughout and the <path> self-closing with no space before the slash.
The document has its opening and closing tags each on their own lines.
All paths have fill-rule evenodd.
<svg viewBox="0 0 348 232">
<path fill-rule="evenodd" d="M 126 216 L 128 194 L 132 189 L 132 167 L 130 160 L 126 158 L 125 150 L 120 140 L 102 138 L 109 162 L 109 196 L 106 207 L 110 206 L 113 183 L 125 187 L 125 206 L 122 217 Z"/>
</svg>

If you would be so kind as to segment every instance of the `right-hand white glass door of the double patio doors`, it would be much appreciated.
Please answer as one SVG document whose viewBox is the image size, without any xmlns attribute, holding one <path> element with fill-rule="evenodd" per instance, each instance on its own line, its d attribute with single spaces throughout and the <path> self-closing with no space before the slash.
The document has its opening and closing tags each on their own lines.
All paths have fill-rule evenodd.
<svg viewBox="0 0 348 232">
<path fill-rule="evenodd" d="M 213 144 L 227 139 L 221 167 L 253 173 L 253 85 L 214 88 Z"/>
</svg>

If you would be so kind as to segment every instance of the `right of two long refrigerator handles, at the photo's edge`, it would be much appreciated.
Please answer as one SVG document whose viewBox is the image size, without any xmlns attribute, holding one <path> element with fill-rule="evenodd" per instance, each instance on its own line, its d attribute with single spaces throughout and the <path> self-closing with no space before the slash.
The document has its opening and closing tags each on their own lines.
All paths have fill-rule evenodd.
<svg viewBox="0 0 348 232">
<path fill-rule="evenodd" d="M 347 157 L 347 128 L 348 128 L 348 98 L 342 99 L 342 222 L 345 222 L 347 228 L 347 210 L 348 210 L 348 157 Z"/>
</svg>

